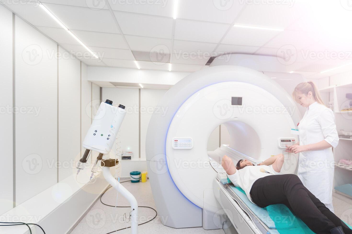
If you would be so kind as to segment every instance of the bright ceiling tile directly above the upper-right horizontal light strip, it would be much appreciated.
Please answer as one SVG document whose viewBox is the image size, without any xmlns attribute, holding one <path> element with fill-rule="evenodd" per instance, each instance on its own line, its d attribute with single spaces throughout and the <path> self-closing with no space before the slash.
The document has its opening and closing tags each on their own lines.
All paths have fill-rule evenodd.
<svg viewBox="0 0 352 234">
<path fill-rule="evenodd" d="M 255 2 L 246 5 L 235 24 L 284 29 L 301 15 L 302 5 L 296 1 L 280 1 L 281 4 Z"/>
</svg>

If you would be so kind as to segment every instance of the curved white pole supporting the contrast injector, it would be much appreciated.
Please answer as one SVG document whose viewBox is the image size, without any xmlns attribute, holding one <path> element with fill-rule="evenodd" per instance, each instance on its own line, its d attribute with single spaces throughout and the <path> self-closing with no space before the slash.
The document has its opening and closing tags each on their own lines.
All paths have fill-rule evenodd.
<svg viewBox="0 0 352 234">
<path fill-rule="evenodd" d="M 112 186 L 114 187 L 118 193 L 121 193 L 122 196 L 124 196 L 128 202 L 130 202 L 131 205 L 131 233 L 132 234 L 137 234 L 138 233 L 138 205 L 137 205 L 137 200 L 134 198 L 134 196 L 124 187 L 122 186 L 119 182 L 116 181 L 116 179 L 112 176 L 110 173 L 110 167 L 103 167 L 103 175 L 105 180 Z M 117 188 L 117 185 L 119 183 L 119 189 Z M 127 219 L 128 214 L 126 214 Z"/>
</svg>

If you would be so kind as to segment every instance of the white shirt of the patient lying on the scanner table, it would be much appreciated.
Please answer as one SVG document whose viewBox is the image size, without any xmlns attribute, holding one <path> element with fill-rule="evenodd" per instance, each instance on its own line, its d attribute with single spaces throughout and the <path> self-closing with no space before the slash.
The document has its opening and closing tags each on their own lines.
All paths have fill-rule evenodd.
<svg viewBox="0 0 352 234">
<path fill-rule="evenodd" d="M 265 171 L 270 172 L 265 173 L 261 172 L 260 168 L 263 168 Z M 276 172 L 274 168 L 272 168 L 272 165 L 266 166 L 266 165 L 261 165 L 261 166 L 246 166 L 242 169 L 236 170 L 236 173 L 233 175 L 227 175 L 228 179 L 231 180 L 231 182 L 237 186 L 241 187 L 244 192 L 247 195 L 247 198 L 252 202 L 251 195 L 249 194 L 252 188 L 252 185 L 256 180 L 259 178 L 263 178 L 268 175 L 279 175 L 281 173 Z"/>
</svg>

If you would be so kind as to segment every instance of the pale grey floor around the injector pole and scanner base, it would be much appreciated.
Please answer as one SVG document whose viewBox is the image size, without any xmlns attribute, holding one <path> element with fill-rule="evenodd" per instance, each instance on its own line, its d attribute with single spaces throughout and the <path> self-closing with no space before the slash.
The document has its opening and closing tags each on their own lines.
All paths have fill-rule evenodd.
<svg viewBox="0 0 352 234">
<path fill-rule="evenodd" d="M 151 192 L 149 181 L 142 183 L 122 183 L 137 199 L 139 206 L 150 206 L 156 208 Z M 102 201 L 115 205 L 116 192 L 109 189 L 102 197 Z M 334 193 L 333 204 L 335 214 L 342 220 L 352 225 L 352 200 L 343 195 Z M 119 196 L 118 206 L 128 206 L 127 200 Z M 129 208 L 115 208 L 103 205 L 99 200 L 93 205 L 92 209 L 77 224 L 71 234 L 107 234 L 116 229 L 129 227 L 130 223 L 124 223 L 123 216 L 128 217 Z M 149 208 L 140 207 L 138 210 L 140 222 L 145 222 L 155 216 L 155 211 Z M 161 219 L 157 216 L 151 222 L 138 226 L 139 234 L 158 234 L 158 233 L 181 233 L 181 234 L 224 234 L 222 229 L 205 230 L 202 227 L 196 228 L 171 228 L 162 225 Z M 166 217 L 167 218 L 167 217 Z M 131 233 L 130 229 L 120 230 L 117 234 Z"/>
</svg>

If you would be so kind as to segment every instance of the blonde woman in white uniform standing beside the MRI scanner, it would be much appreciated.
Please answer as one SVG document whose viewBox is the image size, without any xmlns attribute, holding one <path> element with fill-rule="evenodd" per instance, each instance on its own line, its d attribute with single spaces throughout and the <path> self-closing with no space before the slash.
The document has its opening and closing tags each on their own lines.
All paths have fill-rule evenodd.
<svg viewBox="0 0 352 234">
<path fill-rule="evenodd" d="M 295 154 L 300 153 L 298 177 L 316 198 L 334 212 L 332 147 L 337 146 L 339 136 L 333 111 L 324 106 L 318 89 L 311 81 L 298 84 L 292 95 L 307 111 L 298 123 L 300 141 L 287 150 Z"/>
</svg>

